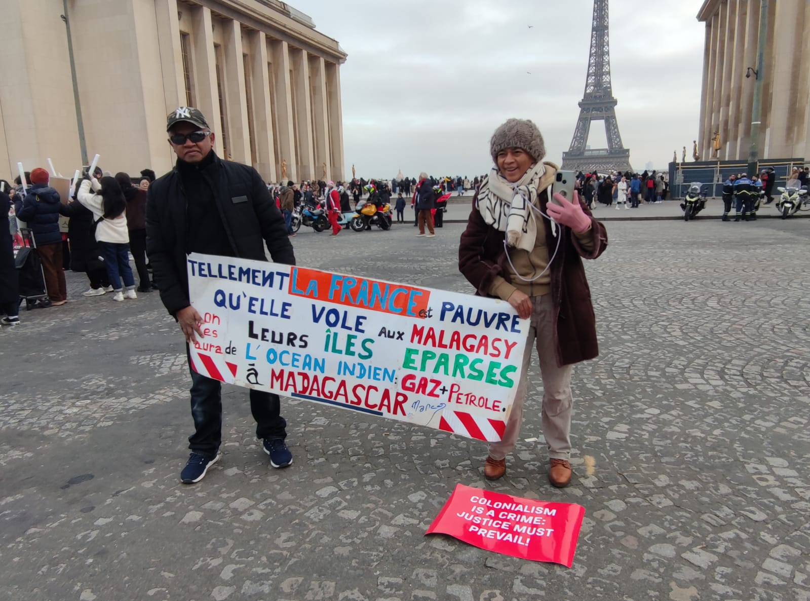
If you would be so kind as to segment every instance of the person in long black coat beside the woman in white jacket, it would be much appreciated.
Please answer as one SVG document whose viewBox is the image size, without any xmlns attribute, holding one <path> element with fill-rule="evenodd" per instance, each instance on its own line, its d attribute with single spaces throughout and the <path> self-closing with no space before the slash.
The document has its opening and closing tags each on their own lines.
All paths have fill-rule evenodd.
<svg viewBox="0 0 810 601">
<path fill-rule="evenodd" d="M 87 274 L 90 288 L 82 292 L 83 296 L 101 296 L 112 292 L 107 268 L 100 258 L 96 242 L 96 227 L 93 224 L 93 213 L 78 200 L 68 202 L 62 215 L 70 217 L 67 226 L 67 239 L 70 241 L 70 271 Z"/>
</svg>

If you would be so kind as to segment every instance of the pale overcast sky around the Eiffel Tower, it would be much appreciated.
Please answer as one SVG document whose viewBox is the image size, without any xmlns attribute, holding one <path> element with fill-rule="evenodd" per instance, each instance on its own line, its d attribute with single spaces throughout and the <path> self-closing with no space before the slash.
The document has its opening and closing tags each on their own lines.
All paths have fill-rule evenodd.
<svg viewBox="0 0 810 601">
<path fill-rule="evenodd" d="M 702 0 L 613 0 L 616 117 L 633 168 L 665 168 L 697 138 Z M 579 114 L 591 0 L 292 0 L 348 54 L 340 68 L 346 173 L 473 177 L 489 138 L 529 118 L 559 164 Z M 529 28 L 528 26 L 533 26 Z M 604 127 L 591 147 L 606 147 Z"/>
</svg>

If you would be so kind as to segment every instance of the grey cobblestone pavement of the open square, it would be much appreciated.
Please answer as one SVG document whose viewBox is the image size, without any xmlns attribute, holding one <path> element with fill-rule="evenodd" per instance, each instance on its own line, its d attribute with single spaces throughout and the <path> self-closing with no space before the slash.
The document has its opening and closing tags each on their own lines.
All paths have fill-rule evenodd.
<svg viewBox="0 0 810 601">
<path fill-rule="evenodd" d="M 293 241 L 300 264 L 470 292 L 462 227 Z M 810 222 L 608 232 L 563 490 L 536 397 L 490 483 L 482 443 L 291 399 L 275 471 L 227 387 L 224 458 L 181 485 L 177 326 L 154 293 L 83 298 L 68 274 L 68 305 L 0 330 L 0 599 L 808 601 Z M 457 483 L 584 505 L 573 569 L 425 537 Z"/>
</svg>

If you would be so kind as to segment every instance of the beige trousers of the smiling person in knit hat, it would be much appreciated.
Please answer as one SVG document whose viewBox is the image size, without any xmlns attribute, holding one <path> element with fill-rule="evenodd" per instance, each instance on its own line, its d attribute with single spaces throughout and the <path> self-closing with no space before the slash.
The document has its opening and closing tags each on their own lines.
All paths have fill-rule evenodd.
<svg viewBox="0 0 810 601">
<path fill-rule="evenodd" d="M 489 444 L 489 456 L 493 459 L 504 459 L 514 449 L 518 441 L 520 424 L 523 420 L 523 403 L 526 401 L 529 386 L 528 371 L 531 362 L 532 343 L 536 343 L 540 360 L 540 375 L 543 377 L 543 436 L 548 445 L 548 457 L 568 459 L 571 455 L 571 373 L 573 365 L 559 367 L 554 350 L 554 328 L 552 321 L 553 307 L 551 294 L 532 296 L 534 310 L 531 313 L 529 338 L 526 351 L 523 352 L 522 377 L 518 382 L 506 431 L 500 442 Z"/>
</svg>

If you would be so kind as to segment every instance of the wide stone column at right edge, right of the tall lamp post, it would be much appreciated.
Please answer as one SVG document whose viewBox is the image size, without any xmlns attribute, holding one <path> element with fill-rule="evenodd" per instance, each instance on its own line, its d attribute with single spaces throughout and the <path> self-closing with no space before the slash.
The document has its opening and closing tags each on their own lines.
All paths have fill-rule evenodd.
<svg viewBox="0 0 810 601">
<path fill-rule="evenodd" d="M 794 154 L 796 123 L 796 93 L 799 83 L 800 36 L 804 28 L 804 0 L 779 0 L 776 2 L 774 23 L 774 53 L 777 59 L 765 68 L 773 70 L 774 85 L 771 88 L 770 152 L 769 158 L 786 159 Z M 797 19 L 802 11 L 801 19 Z M 806 66 L 804 67 L 807 68 Z M 802 107 L 804 109 L 804 107 Z"/>
</svg>

